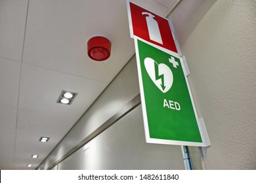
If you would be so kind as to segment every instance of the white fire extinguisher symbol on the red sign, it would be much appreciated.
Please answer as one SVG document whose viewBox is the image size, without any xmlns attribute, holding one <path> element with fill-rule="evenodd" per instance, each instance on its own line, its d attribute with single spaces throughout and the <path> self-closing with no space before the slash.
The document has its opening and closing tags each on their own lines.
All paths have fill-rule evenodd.
<svg viewBox="0 0 256 183">
<path fill-rule="evenodd" d="M 142 15 L 144 14 L 148 15 L 146 16 L 146 24 L 148 25 L 148 33 L 150 35 L 150 40 L 163 44 L 163 41 L 161 40 L 161 33 L 158 26 L 158 22 L 154 20 L 155 16 L 149 12 L 142 12 Z"/>
</svg>

